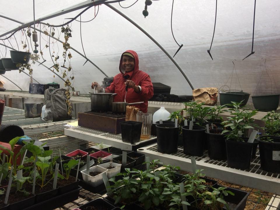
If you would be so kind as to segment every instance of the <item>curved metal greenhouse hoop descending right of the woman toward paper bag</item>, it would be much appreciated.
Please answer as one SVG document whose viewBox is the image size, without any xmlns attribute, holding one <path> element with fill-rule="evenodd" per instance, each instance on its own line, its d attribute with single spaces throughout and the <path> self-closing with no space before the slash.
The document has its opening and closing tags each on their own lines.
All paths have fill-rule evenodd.
<svg viewBox="0 0 280 210">
<path fill-rule="evenodd" d="M 115 7 L 111 6 L 110 4 L 105 4 L 106 6 L 108 6 L 109 8 L 111 8 L 112 10 L 114 10 L 116 13 L 118 13 L 119 15 L 121 15 L 122 17 L 124 17 L 126 20 L 128 20 L 129 22 L 131 22 L 134 26 L 136 26 L 140 31 L 142 31 L 144 34 L 146 34 L 146 36 L 148 36 L 169 58 L 170 60 L 175 64 L 175 66 L 179 69 L 179 71 L 181 71 L 181 73 L 183 74 L 183 76 L 185 77 L 186 81 L 189 83 L 190 87 L 192 88 L 192 90 L 194 89 L 192 84 L 190 83 L 188 77 L 185 75 L 185 73 L 183 72 L 183 70 L 179 67 L 179 65 L 176 63 L 176 61 L 169 55 L 169 53 L 167 53 L 166 50 L 164 50 L 164 48 L 152 37 L 150 36 L 150 34 L 148 34 L 144 29 L 142 29 L 136 22 L 134 22 L 133 20 L 131 20 L 129 17 L 127 17 L 124 13 L 122 13 L 120 10 L 116 9 Z"/>
</svg>

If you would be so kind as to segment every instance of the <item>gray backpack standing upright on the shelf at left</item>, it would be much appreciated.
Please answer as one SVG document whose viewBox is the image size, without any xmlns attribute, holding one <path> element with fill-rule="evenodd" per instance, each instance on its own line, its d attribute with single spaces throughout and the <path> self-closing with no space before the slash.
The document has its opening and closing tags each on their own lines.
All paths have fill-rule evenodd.
<svg viewBox="0 0 280 210">
<path fill-rule="evenodd" d="M 68 105 L 66 104 L 65 92 L 66 90 L 63 88 L 48 88 L 45 90 L 44 95 L 46 101 L 46 109 L 51 109 L 51 112 L 53 113 L 53 121 L 67 120 L 72 118 L 72 112 L 71 115 L 68 115 Z M 70 103 L 72 106 L 72 102 Z"/>
</svg>

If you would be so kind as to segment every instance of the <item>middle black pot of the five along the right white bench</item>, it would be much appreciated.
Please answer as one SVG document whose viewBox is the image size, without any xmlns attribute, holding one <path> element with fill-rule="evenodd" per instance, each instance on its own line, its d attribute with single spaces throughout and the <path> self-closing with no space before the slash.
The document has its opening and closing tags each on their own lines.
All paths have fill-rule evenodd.
<svg viewBox="0 0 280 210">
<path fill-rule="evenodd" d="M 209 133 L 205 131 L 208 145 L 208 156 L 213 159 L 227 159 L 227 150 L 225 146 L 225 135 L 221 134 L 222 129 L 211 129 Z"/>
</svg>

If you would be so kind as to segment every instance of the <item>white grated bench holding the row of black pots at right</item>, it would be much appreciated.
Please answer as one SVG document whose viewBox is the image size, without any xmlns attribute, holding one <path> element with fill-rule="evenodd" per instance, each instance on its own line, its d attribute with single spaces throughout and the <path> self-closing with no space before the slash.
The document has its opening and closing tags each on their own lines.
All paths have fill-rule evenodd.
<svg viewBox="0 0 280 210">
<path fill-rule="evenodd" d="M 153 144 L 137 151 L 144 153 L 151 159 L 160 159 L 164 164 L 181 167 L 181 170 L 192 171 L 190 155 L 183 153 L 183 146 L 178 147 L 177 153 L 168 155 L 157 151 L 157 144 Z M 263 171 L 260 167 L 259 151 L 256 158 L 251 160 L 249 169 L 241 170 L 227 166 L 227 160 L 214 160 L 207 155 L 207 151 L 201 157 L 195 157 L 197 168 L 204 169 L 203 173 L 209 177 L 221 179 L 230 183 L 259 189 L 266 192 L 280 194 L 280 174 Z"/>
</svg>

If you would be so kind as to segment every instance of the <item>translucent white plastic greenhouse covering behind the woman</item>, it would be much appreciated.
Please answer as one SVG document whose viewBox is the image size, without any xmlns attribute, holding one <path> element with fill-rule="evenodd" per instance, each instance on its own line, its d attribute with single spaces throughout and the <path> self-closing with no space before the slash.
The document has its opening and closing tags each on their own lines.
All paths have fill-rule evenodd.
<svg viewBox="0 0 280 210">
<path fill-rule="evenodd" d="M 35 14 L 35 27 L 41 29 L 41 32 L 37 31 L 39 59 L 35 64 L 32 64 L 32 61 L 30 63 L 33 79 L 41 84 L 56 82 L 64 87 L 62 79 L 69 78 L 76 91 L 90 92 L 93 81 L 101 84 L 104 77 L 119 73 L 120 56 L 130 49 L 139 55 L 139 69 L 148 73 L 152 82 L 171 86 L 171 94 L 192 94 L 192 88 L 179 68 L 193 88 L 230 88 L 243 90 L 251 95 L 278 93 L 280 1 L 217 0 L 214 36 L 215 0 L 151 2 L 152 4 L 147 6 L 148 16 L 144 17 L 142 11 L 145 0 L 36 0 L 34 10 L 31 0 L 1 0 L 0 57 L 9 58 L 10 48 L 33 53 L 35 46 L 32 35 L 31 38 L 26 36 L 28 27 L 18 27 L 31 23 L 29 30 L 32 34 Z M 78 5 L 83 4 L 87 6 L 63 13 L 64 10 L 78 8 Z M 88 9 L 79 15 L 86 8 Z M 56 12 L 63 14 L 52 15 Z M 49 27 L 48 24 L 62 25 L 74 17 L 76 19 L 69 23 L 71 37 L 68 43 L 71 48 L 66 53 L 64 64 L 63 44 L 56 40 L 65 42 L 61 26 Z M 129 19 L 145 30 L 146 34 Z M 210 52 L 213 60 L 207 53 L 212 37 Z M 26 48 L 23 47 L 25 44 Z M 255 53 L 244 59 L 251 51 Z M 71 59 L 68 53 L 71 53 Z M 171 59 L 173 56 L 174 61 Z M 85 57 L 91 62 L 86 62 Z M 44 60 L 46 61 L 43 62 Z M 38 65 L 41 62 L 43 64 Z M 56 62 L 59 64 L 58 72 L 53 68 Z M 66 68 L 71 66 L 71 71 L 61 67 L 63 64 Z M 64 70 L 67 75 L 62 78 Z M 29 73 L 27 69 L 24 71 Z M 6 71 L 3 75 L 5 77 L 0 76 L 0 80 L 5 83 L 7 90 L 20 90 L 9 81 L 11 80 L 22 90 L 28 91 L 30 77 L 27 74 L 19 73 L 18 70 Z M 71 80 L 73 76 L 74 80 Z M 36 81 L 33 80 L 34 83 Z"/>
</svg>

